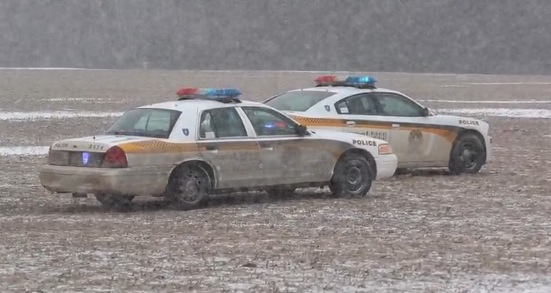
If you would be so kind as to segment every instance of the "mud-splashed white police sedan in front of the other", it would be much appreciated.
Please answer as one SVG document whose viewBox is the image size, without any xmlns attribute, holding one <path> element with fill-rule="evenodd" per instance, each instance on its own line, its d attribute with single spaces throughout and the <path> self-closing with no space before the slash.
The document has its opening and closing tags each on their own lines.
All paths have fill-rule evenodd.
<svg viewBox="0 0 551 293">
<path fill-rule="evenodd" d="M 184 209 L 209 195 L 273 194 L 329 186 L 335 197 L 363 197 L 391 177 L 397 158 L 381 139 L 313 131 L 237 89 L 183 88 L 175 101 L 125 112 L 101 135 L 54 142 L 42 186 L 94 194 L 106 206 L 164 196 Z"/>
</svg>

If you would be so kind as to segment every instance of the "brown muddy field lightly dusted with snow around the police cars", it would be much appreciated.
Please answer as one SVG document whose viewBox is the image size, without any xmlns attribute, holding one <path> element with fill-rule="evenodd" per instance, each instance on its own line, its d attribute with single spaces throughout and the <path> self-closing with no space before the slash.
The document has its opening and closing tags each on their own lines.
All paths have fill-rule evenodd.
<svg viewBox="0 0 551 293">
<path fill-rule="evenodd" d="M 184 85 L 235 86 L 261 100 L 316 75 L 0 70 L 0 113 L 123 111 Z M 376 77 L 418 99 L 466 102 L 426 103 L 436 109 L 551 108 L 549 77 Z M 468 103 L 480 100 L 489 102 Z M 544 103 L 491 102 L 513 100 Z M 44 146 L 113 119 L 4 119 L 0 146 Z M 551 120 L 485 119 L 495 156 L 480 174 L 402 175 L 353 200 L 309 189 L 281 200 L 226 195 L 186 212 L 150 198 L 109 211 L 45 192 L 43 157 L 2 156 L 2 291 L 549 292 Z"/>
</svg>

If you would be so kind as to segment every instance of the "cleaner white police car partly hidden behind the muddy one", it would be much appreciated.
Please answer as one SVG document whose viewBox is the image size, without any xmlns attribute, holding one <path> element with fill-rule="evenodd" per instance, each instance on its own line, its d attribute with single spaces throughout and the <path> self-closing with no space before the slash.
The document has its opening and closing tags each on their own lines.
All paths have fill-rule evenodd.
<svg viewBox="0 0 551 293">
<path fill-rule="evenodd" d="M 316 86 L 290 90 L 264 103 L 311 129 L 364 134 L 390 142 L 399 171 L 444 167 L 477 173 L 492 154 L 488 123 L 436 114 L 412 98 L 375 86 L 372 76 L 319 76 Z"/>
</svg>

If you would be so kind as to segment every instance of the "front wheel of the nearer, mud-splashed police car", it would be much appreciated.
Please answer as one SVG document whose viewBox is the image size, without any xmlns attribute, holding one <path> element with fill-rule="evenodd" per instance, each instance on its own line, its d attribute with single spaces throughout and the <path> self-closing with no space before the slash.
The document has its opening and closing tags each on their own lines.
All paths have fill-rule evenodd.
<svg viewBox="0 0 551 293">
<path fill-rule="evenodd" d="M 359 154 L 349 154 L 337 162 L 329 188 L 333 197 L 365 197 L 372 183 L 369 161 Z"/>
</svg>

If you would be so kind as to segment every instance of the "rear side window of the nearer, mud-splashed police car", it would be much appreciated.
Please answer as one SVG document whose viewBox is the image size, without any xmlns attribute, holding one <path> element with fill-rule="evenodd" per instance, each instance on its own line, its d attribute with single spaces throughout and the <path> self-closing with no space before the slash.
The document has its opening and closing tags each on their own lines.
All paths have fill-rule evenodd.
<svg viewBox="0 0 551 293">
<path fill-rule="evenodd" d="M 199 137 L 203 139 L 243 137 L 247 131 L 235 108 L 206 110 L 201 114 Z"/>
</svg>

